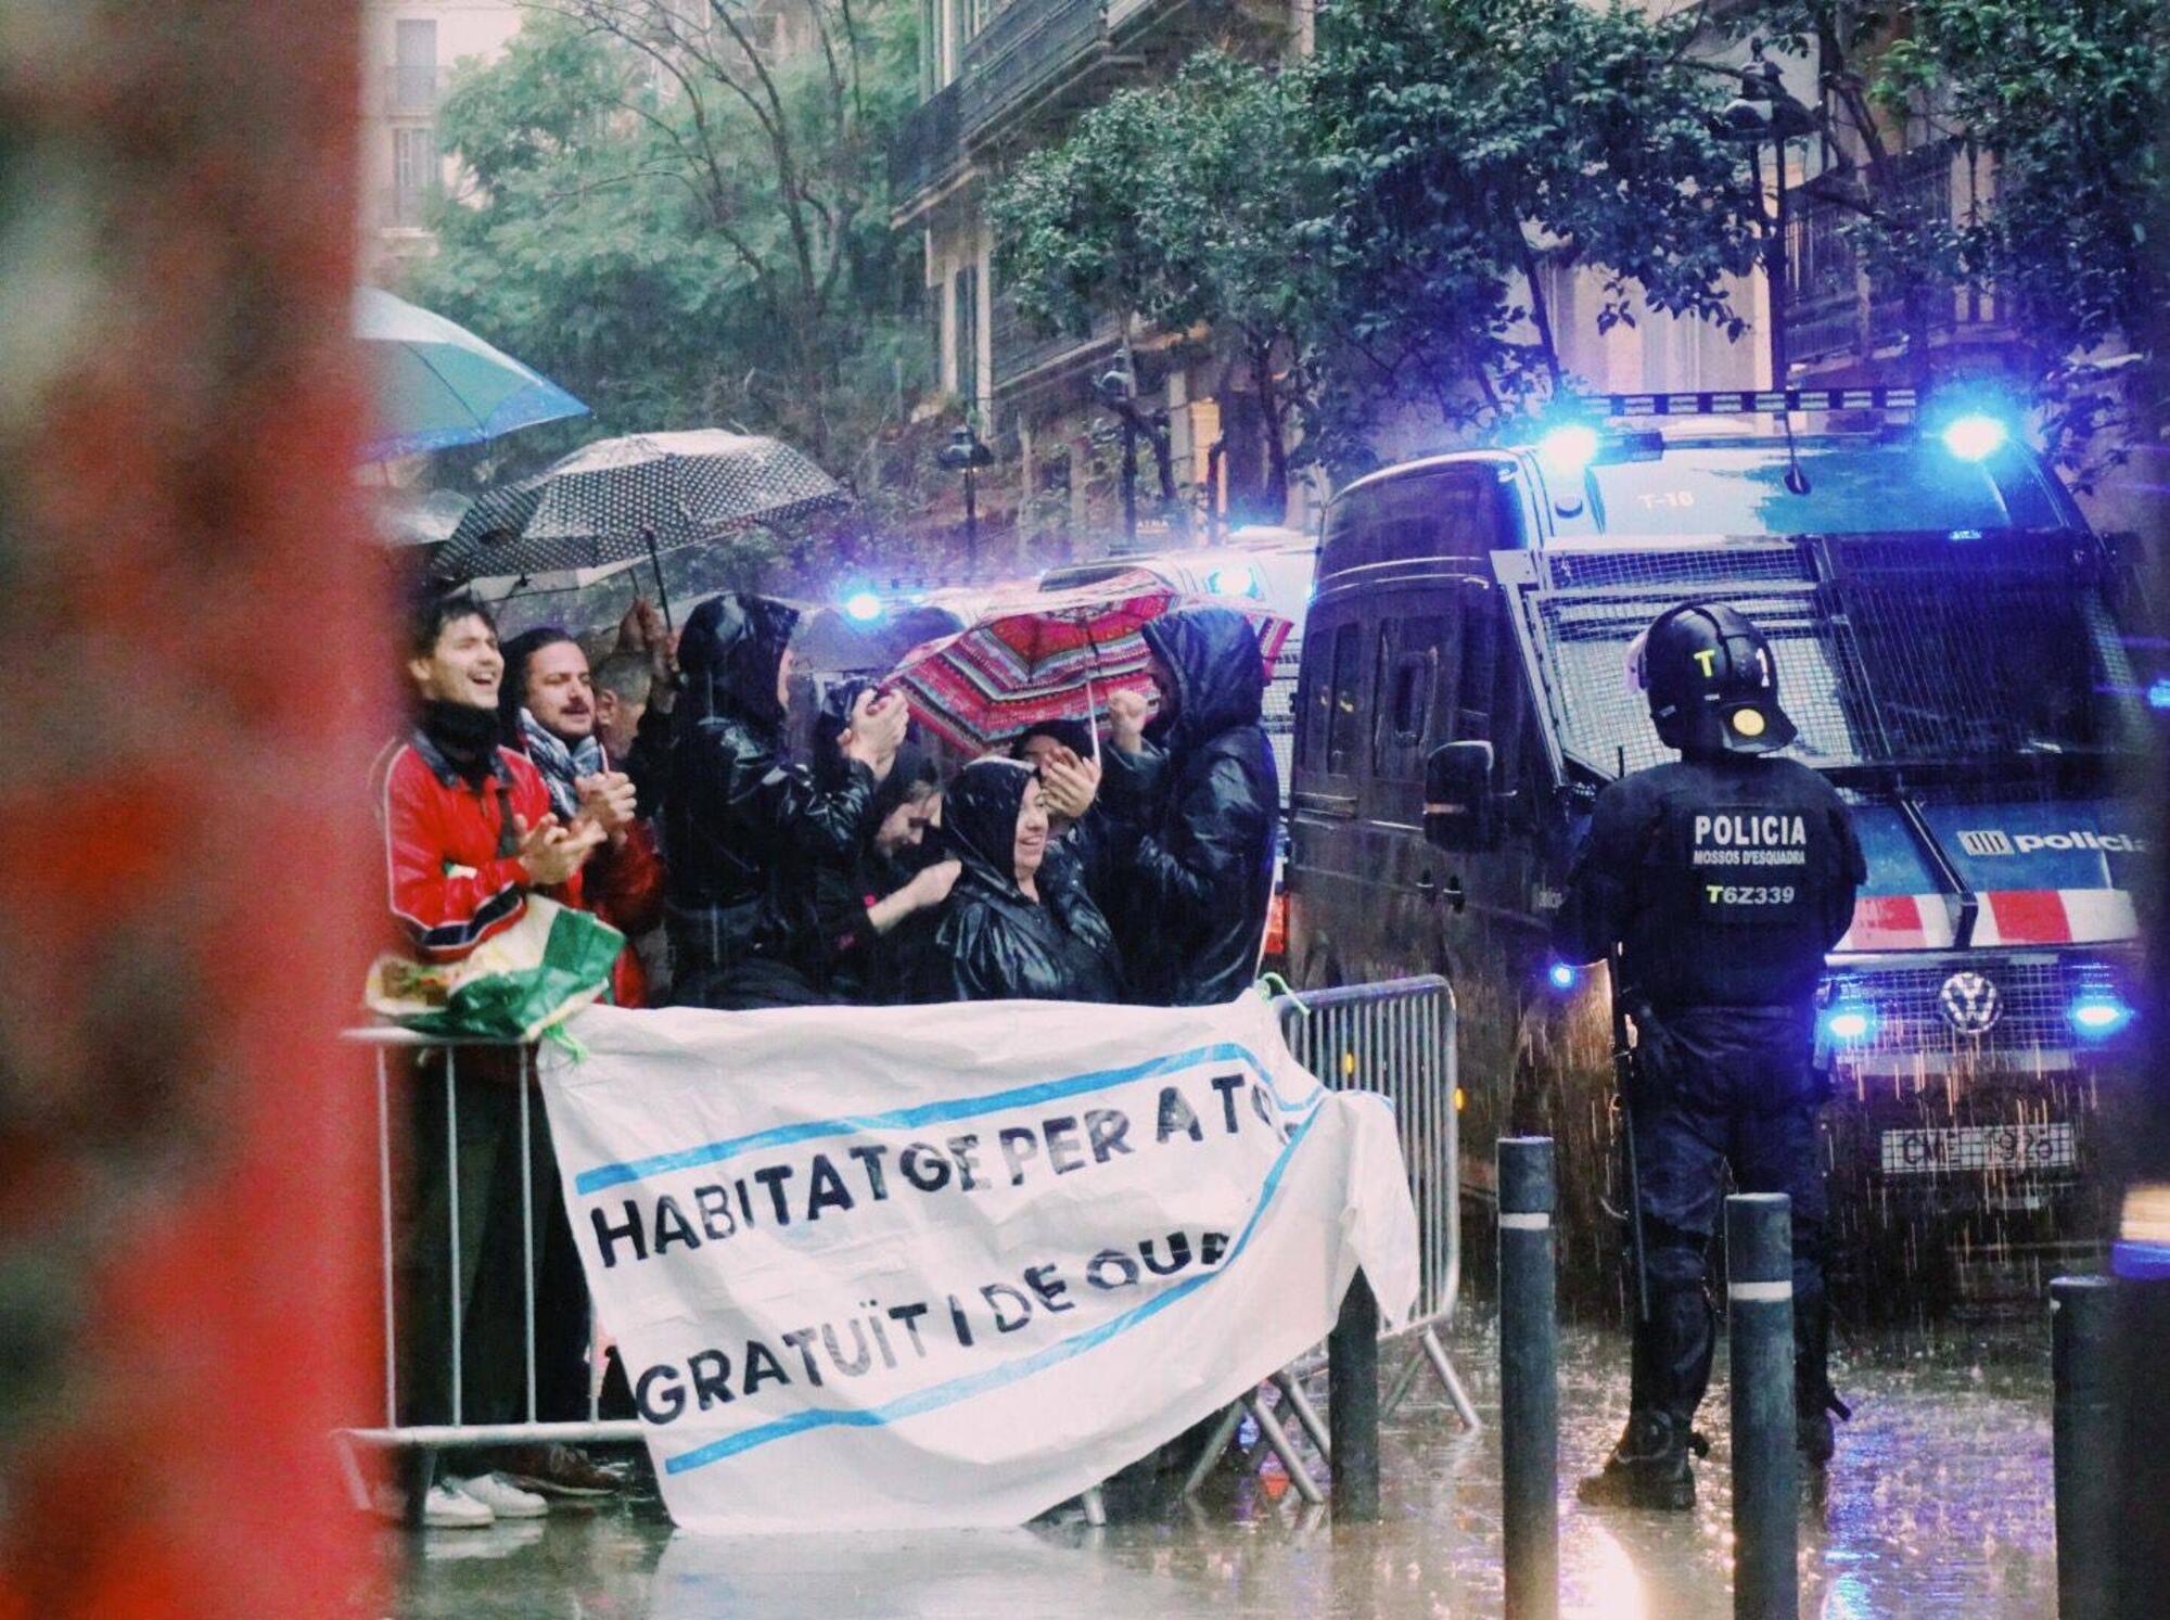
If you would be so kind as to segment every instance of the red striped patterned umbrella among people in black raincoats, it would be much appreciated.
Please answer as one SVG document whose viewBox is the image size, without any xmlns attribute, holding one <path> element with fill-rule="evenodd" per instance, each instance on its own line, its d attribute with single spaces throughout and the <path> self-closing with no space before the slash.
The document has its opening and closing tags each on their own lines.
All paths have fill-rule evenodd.
<svg viewBox="0 0 2170 1620">
<path fill-rule="evenodd" d="M 1228 608 L 1259 632 L 1263 673 L 1293 628 L 1252 599 L 1176 591 L 1144 571 L 994 608 L 896 667 L 911 712 L 942 741 L 983 754 L 1029 725 L 1092 719 L 1115 691 L 1148 686 L 1144 628 L 1178 608 Z"/>
</svg>

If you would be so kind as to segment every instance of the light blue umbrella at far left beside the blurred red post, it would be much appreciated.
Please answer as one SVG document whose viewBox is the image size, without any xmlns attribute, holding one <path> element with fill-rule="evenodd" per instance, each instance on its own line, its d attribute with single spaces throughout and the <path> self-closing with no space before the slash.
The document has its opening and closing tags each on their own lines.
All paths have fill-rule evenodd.
<svg viewBox="0 0 2170 1620">
<path fill-rule="evenodd" d="M 571 393 L 464 326 L 375 287 L 354 289 L 354 337 L 375 367 L 378 436 L 362 445 L 362 460 L 480 445 L 588 415 Z"/>
</svg>

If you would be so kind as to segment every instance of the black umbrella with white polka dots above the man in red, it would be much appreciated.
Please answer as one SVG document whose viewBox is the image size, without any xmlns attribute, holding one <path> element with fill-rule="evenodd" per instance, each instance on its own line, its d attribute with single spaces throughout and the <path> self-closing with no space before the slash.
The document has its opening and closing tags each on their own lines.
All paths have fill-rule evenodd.
<svg viewBox="0 0 2170 1620">
<path fill-rule="evenodd" d="M 597 439 L 477 497 L 432 571 L 469 580 L 647 556 L 668 617 L 660 552 L 848 502 L 842 484 L 775 439 L 720 428 Z"/>
</svg>

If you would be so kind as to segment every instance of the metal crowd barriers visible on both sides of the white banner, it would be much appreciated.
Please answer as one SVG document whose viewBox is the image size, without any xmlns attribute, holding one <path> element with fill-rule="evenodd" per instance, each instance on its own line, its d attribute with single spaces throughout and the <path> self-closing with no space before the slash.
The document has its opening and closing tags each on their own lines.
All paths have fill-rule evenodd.
<svg viewBox="0 0 2170 1620">
<path fill-rule="evenodd" d="M 1432 975 L 1417 979 L 1391 979 L 1384 984 L 1358 984 L 1339 990 L 1311 990 L 1276 999 L 1280 1029 L 1295 1058 L 1337 1090 L 1380 1092 L 1393 1103 L 1402 1136 L 1402 1155 L 1408 1166 L 1410 1194 L 1417 1205 L 1419 1242 L 1419 1292 L 1417 1314 L 1382 1333 L 1384 1340 L 1415 1338 L 1417 1353 L 1402 1366 L 1382 1409 L 1391 1414 L 1406 1396 L 1417 1375 L 1430 1366 L 1447 1394 L 1447 1401 L 1471 1429 L 1478 1427 L 1476 1409 L 1463 1390 L 1454 1364 L 1439 1340 L 1441 1329 L 1454 1320 L 1463 1277 L 1463 1223 L 1460 1223 L 1460 1140 L 1458 1114 L 1454 1108 L 1456 1088 L 1456 1008 L 1452 986 Z M 375 1427 L 349 1427 L 339 1431 L 341 1459 L 349 1488 L 365 1496 L 362 1477 L 354 1461 L 354 1446 L 384 1446 L 434 1453 L 456 1446 L 514 1446 L 547 1442 L 631 1442 L 640 1440 L 636 1418 L 603 1418 L 601 1379 L 597 1370 L 595 1320 L 588 1322 L 588 1414 L 582 1420 L 545 1422 L 536 1409 L 536 1188 L 534 1188 L 534 1114 L 542 1108 L 534 1086 L 532 1047 L 506 1047 L 486 1040 L 447 1040 L 421 1036 L 408 1029 L 354 1029 L 352 1040 L 375 1049 L 378 1081 L 378 1216 L 380 1216 L 380 1264 L 384 1288 L 384 1422 Z M 525 1416 L 514 1422 L 469 1422 L 464 1390 L 464 1290 L 458 1281 L 447 1290 L 449 1320 L 441 1346 L 451 1362 L 449 1379 L 449 1422 L 401 1422 L 399 1416 L 399 1253 L 397 1212 L 393 1207 L 393 1086 L 391 1066 L 395 1053 L 417 1060 L 434 1055 L 427 1068 L 417 1062 L 417 1086 L 441 1086 L 445 1097 L 445 1175 L 454 1188 L 460 1186 L 460 1062 L 473 1053 L 510 1053 L 516 1064 L 519 1092 L 519 1177 L 521 1177 L 521 1333 L 525 1351 Z M 497 1062 L 506 1062 L 503 1055 Z M 447 1244 L 449 1273 L 460 1277 L 460 1199 L 447 1201 L 449 1220 L 443 1233 Z M 480 1218 L 484 1212 L 467 1212 Z M 1328 1431 L 1311 1398 L 1304 1394 L 1304 1379 L 1324 1370 L 1324 1353 L 1306 1357 L 1298 1366 L 1276 1372 L 1269 1388 L 1276 1390 L 1276 1405 L 1293 1414 L 1302 1431 L 1322 1455 L 1328 1455 Z M 1267 1388 L 1267 1385 L 1261 1385 Z M 1222 1429 L 1209 1453 L 1200 1457 L 1191 1475 L 1191 1485 L 1200 1483 L 1228 1440 L 1235 1435 L 1243 1414 L 1250 1414 L 1261 1442 L 1256 1455 L 1265 1451 L 1280 1455 L 1291 1483 L 1306 1501 L 1319 1501 L 1319 1492 L 1304 1472 L 1287 1429 L 1276 1418 L 1274 1405 L 1256 1394 L 1228 1409 Z M 1096 1507 L 1096 1505 L 1089 1505 Z"/>
</svg>

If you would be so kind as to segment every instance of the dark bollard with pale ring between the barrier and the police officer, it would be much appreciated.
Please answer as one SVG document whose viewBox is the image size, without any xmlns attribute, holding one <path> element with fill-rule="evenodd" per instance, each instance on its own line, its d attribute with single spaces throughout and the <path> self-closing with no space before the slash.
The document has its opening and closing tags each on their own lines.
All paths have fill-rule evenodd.
<svg viewBox="0 0 2170 1620">
<path fill-rule="evenodd" d="M 1560 1611 L 1560 1351 L 1552 1138 L 1499 1138 L 1499 1483 L 1506 1616 Z"/>
</svg>

